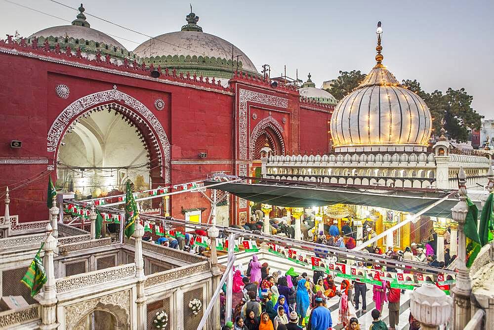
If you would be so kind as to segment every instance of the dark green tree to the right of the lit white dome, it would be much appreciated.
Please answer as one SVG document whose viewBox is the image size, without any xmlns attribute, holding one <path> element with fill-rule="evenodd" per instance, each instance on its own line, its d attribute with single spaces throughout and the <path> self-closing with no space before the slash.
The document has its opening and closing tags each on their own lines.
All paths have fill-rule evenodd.
<svg viewBox="0 0 494 330">
<path fill-rule="evenodd" d="M 434 118 L 433 135 L 440 134 L 443 118 L 446 122 L 446 136 L 458 142 L 468 141 L 469 130 L 480 129 L 482 116 L 472 109 L 473 96 L 467 94 L 465 88 L 448 88 L 446 94 L 435 90 L 429 94 L 422 90 L 416 80 L 404 80 L 403 84 L 420 96 L 429 107 Z"/>
</svg>

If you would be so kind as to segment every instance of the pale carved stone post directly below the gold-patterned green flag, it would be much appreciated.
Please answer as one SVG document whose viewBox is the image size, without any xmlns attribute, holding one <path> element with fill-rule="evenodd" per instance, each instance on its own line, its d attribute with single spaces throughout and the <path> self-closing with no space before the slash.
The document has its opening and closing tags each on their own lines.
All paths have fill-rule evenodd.
<svg viewBox="0 0 494 330">
<path fill-rule="evenodd" d="M 91 228 L 93 221 L 91 220 Z M 134 233 L 132 237 L 135 239 L 135 251 L 134 251 L 134 263 L 135 263 L 135 277 L 137 279 L 137 329 L 146 329 L 147 316 L 146 316 L 146 293 L 144 291 L 144 281 L 146 276 L 144 275 L 144 259 L 142 257 L 142 237 L 144 236 L 144 227 L 141 225 L 139 219 L 135 222 Z"/>
</svg>

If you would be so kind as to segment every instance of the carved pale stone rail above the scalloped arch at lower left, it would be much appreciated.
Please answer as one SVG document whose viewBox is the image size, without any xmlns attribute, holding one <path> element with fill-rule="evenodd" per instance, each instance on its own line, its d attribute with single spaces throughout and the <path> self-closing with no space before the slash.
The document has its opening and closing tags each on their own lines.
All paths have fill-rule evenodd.
<svg viewBox="0 0 494 330">
<path fill-rule="evenodd" d="M 74 291 L 95 285 L 115 282 L 135 277 L 135 264 L 105 268 L 94 272 L 82 273 L 57 280 L 57 293 Z"/>
</svg>

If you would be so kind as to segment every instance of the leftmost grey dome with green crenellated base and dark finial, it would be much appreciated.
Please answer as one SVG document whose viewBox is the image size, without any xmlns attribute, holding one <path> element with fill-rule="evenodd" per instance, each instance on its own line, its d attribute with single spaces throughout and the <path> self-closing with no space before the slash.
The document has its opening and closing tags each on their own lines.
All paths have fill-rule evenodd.
<svg viewBox="0 0 494 330">
<path fill-rule="evenodd" d="M 120 60 L 125 57 L 131 60 L 134 58 L 119 41 L 101 31 L 91 29 L 91 25 L 86 21 L 85 9 L 82 4 L 79 11 L 77 18 L 72 21 L 72 25 L 53 26 L 38 31 L 28 38 L 28 43 L 32 43 L 36 38 L 40 46 L 48 40 L 50 48 L 54 48 L 58 44 L 61 49 L 70 46 L 72 51 L 81 47 L 85 54 L 94 55 L 99 51 L 103 56 L 109 54 L 110 57 Z"/>
</svg>

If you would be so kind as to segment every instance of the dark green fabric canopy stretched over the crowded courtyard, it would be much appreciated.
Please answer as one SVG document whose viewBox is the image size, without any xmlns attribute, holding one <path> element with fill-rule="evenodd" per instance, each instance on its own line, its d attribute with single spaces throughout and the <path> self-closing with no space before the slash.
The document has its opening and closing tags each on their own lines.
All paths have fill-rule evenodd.
<svg viewBox="0 0 494 330">
<path fill-rule="evenodd" d="M 204 181 L 205 187 L 215 183 L 218 181 Z M 311 207 L 342 203 L 384 207 L 410 213 L 418 213 L 451 193 L 451 191 L 398 190 L 386 189 L 386 187 L 354 188 L 316 182 L 269 180 L 262 180 L 256 184 L 225 183 L 215 186 L 214 189 L 229 192 L 248 201 L 276 206 Z M 456 197 L 450 197 L 424 215 L 451 218 L 451 208 L 458 201 Z"/>
</svg>

